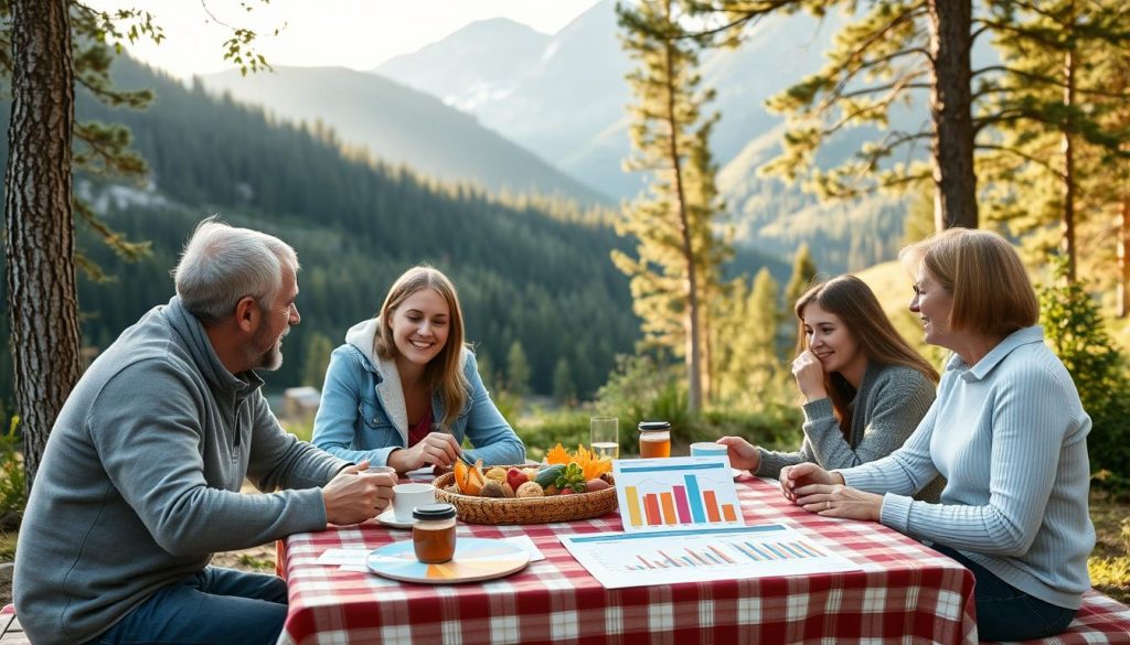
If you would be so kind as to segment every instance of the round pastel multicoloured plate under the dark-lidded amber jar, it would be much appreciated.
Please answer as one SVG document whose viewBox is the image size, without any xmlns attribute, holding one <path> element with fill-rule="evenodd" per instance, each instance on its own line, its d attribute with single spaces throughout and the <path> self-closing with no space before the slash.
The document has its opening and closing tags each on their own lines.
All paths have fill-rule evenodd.
<svg viewBox="0 0 1130 645">
<path fill-rule="evenodd" d="M 530 561 L 525 549 L 498 540 L 459 538 L 455 557 L 438 565 L 416 559 L 411 540 L 385 544 L 365 559 L 368 570 L 392 579 L 444 584 L 497 578 L 522 569 Z"/>
</svg>

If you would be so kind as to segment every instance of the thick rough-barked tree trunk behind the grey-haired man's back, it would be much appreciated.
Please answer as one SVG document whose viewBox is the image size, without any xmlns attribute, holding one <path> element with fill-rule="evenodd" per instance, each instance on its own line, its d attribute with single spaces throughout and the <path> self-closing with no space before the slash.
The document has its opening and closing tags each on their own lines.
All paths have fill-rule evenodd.
<svg viewBox="0 0 1130 645">
<path fill-rule="evenodd" d="M 5 252 L 28 491 L 51 426 L 81 372 L 71 219 L 75 87 L 68 9 L 67 0 L 11 3 Z"/>
</svg>

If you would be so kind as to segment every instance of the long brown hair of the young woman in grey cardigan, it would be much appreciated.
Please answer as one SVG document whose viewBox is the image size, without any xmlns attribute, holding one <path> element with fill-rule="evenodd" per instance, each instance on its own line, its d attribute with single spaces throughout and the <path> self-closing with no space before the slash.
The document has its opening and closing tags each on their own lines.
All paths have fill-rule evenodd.
<svg viewBox="0 0 1130 645">
<path fill-rule="evenodd" d="M 914 348 L 907 343 L 887 314 L 883 312 L 879 299 L 867 282 L 855 276 L 838 276 L 808 289 L 797 300 L 797 355 L 808 349 L 808 338 L 805 333 L 805 307 L 816 303 L 831 314 L 855 337 L 860 350 L 867 355 L 868 364 L 901 365 L 918 371 L 923 376 L 938 383 L 938 371 L 935 369 Z M 824 387 L 832 399 L 832 408 L 840 430 L 844 438 L 851 442 L 852 411 L 851 401 L 854 389 L 838 372 L 824 375 Z"/>
</svg>

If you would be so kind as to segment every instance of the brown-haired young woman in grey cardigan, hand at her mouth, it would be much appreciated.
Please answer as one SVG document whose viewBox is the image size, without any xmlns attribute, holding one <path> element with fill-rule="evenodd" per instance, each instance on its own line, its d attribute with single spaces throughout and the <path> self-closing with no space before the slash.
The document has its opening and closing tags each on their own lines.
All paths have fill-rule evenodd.
<svg viewBox="0 0 1130 645">
<path fill-rule="evenodd" d="M 763 477 L 803 462 L 850 468 L 884 457 L 911 436 L 933 403 L 938 373 L 887 320 L 871 288 L 840 276 L 797 300 L 792 373 L 805 399 L 800 450 L 774 452 L 722 437 L 734 468 Z M 940 482 L 923 493 L 940 494 Z"/>
</svg>

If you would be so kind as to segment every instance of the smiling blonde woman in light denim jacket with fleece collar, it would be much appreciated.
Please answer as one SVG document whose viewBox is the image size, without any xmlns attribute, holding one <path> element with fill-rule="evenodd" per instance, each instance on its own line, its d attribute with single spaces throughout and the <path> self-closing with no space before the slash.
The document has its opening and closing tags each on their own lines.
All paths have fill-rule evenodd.
<svg viewBox="0 0 1130 645">
<path fill-rule="evenodd" d="M 389 289 L 380 313 L 350 328 L 331 355 L 313 443 L 348 461 L 406 472 L 450 467 L 464 437 L 471 460 L 525 460 L 463 345 L 454 285 L 431 267 L 414 267 Z"/>
</svg>

